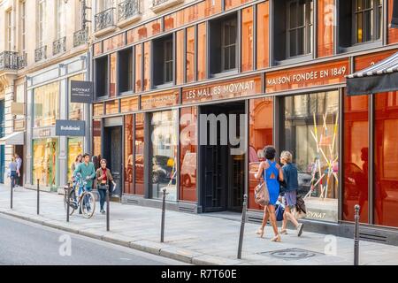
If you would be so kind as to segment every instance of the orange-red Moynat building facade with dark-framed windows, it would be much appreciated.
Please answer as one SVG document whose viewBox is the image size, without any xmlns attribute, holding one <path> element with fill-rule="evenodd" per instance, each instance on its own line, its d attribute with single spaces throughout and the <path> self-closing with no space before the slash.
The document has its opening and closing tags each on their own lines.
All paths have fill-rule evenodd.
<svg viewBox="0 0 398 283">
<path fill-rule="evenodd" d="M 398 51 L 393 1 L 107 4 L 92 46 L 93 153 L 109 160 L 125 203 L 158 206 L 166 188 L 175 210 L 239 211 L 247 194 L 249 218 L 261 218 L 254 173 L 272 144 L 294 154 L 309 229 L 351 236 L 359 203 L 369 237 L 396 242 L 397 93 L 346 95 L 349 73 Z M 216 127 L 244 153 L 198 143 L 201 114 L 246 114 Z"/>
</svg>

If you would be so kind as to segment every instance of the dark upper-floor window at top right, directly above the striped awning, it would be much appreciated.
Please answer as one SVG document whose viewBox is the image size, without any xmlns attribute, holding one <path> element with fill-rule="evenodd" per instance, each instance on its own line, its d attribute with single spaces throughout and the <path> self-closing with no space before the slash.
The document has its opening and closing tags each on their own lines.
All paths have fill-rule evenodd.
<svg viewBox="0 0 398 283">
<path fill-rule="evenodd" d="M 379 41 L 382 34 L 382 3 L 382 0 L 339 1 L 339 45 L 342 50 Z"/>
</svg>

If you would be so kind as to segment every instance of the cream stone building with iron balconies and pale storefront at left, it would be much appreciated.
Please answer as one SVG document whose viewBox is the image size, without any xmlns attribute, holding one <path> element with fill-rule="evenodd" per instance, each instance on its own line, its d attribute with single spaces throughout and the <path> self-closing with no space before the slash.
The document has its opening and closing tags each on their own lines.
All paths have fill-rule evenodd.
<svg viewBox="0 0 398 283">
<path fill-rule="evenodd" d="M 90 150 L 89 122 L 83 137 L 61 137 L 55 131 L 57 119 L 90 119 L 90 107 L 71 103 L 69 96 L 71 80 L 90 76 L 89 27 L 82 17 L 83 5 L 89 4 L 0 1 L 2 166 L 7 168 L 19 154 L 25 187 L 35 187 L 39 180 L 42 189 L 57 190 L 67 182 L 75 157 Z M 2 178 L 9 181 L 4 172 Z"/>
</svg>

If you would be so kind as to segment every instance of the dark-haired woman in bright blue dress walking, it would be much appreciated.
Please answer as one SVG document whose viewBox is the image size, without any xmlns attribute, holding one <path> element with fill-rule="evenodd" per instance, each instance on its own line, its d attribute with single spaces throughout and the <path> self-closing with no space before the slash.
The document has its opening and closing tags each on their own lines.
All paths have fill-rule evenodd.
<svg viewBox="0 0 398 283">
<path fill-rule="evenodd" d="M 267 146 L 264 149 L 265 161 L 260 163 L 258 172 L 255 174 L 255 178 L 258 180 L 263 178 L 266 181 L 268 192 L 270 194 L 270 203 L 264 207 L 264 218 L 263 223 L 257 233 L 263 238 L 264 227 L 268 222 L 268 218 L 271 218 L 271 225 L 273 233 L 275 234 L 271 241 L 280 241 L 280 234 L 278 232 L 278 226 L 275 215 L 275 205 L 279 198 L 279 180 L 283 181 L 282 167 L 275 161 L 276 150 L 272 146 Z"/>
</svg>

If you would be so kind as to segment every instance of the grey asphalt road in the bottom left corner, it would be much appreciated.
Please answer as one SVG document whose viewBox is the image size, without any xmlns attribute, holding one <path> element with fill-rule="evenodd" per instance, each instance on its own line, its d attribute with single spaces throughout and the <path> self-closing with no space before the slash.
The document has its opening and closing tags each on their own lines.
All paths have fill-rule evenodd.
<svg viewBox="0 0 398 283">
<path fill-rule="evenodd" d="M 71 249 L 68 248 L 69 242 Z M 68 256 L 69 254 L 71 256 Z M 182 263 L 163 256 L 154 256 L 0 216 L 0 265 L 2 264 L 180 265 Z"/>
</svg>

